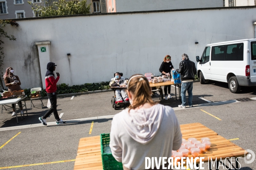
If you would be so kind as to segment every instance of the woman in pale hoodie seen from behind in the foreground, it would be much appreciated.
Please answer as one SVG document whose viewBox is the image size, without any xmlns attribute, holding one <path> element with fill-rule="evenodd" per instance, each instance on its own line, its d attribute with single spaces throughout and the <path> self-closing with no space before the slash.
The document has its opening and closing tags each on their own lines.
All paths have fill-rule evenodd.
<svg viewBox="0 0 256 170">
<path fill-rule="evenodd" d="M 171 107 L 152 101 L 143 75 L 129 79 L 127 94 L 131 105 L 113 117 L 109 146 L 124 170 L 145 170 L 145 157 L 168 159 L 180 148 L 180 124 Z"/>
</svg>

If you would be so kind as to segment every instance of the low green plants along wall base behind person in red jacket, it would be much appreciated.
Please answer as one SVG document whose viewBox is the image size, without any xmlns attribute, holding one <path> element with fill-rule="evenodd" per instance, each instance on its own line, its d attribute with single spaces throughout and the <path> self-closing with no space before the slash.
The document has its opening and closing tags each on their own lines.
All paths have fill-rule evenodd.
<svg viewBox="0 0 256 170">
<path fill-rule="evenodd" d="M 84 85 L 66 85 L 62 83 L 57 85 L 57 94 L 70 94 L 70 93 L 81 93 L 86 91 L 97 91 L 97 90 L 105 90 L 109 89 L 109 82 L 101 82 L 101 83 L 85 83 Z M 30 97 L 30 88 L 24 89 L 25 95 Z M 45 89 L 41 92 L 42 96 L 47 96 Z"/>
</svg>

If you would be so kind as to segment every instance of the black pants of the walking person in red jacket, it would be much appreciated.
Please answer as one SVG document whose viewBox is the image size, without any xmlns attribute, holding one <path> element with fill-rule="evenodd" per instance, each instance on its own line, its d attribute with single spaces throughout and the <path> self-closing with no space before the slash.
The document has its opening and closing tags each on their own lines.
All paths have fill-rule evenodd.
<svg viewBox="0 0 256 170">
<path fill-rule="evenodd" d="M 55 119 L 57 121 L 59 121 L 60 118 L 59 118 L 58 112 L 57 112 L 57 94 L 56 93 L 47 93 L 47 96 L 51 102 L 51 108 L 45 113 L 45 115 L 43 116 L 43 119 L 46 119 L 53 112 Z"/>
</svg>

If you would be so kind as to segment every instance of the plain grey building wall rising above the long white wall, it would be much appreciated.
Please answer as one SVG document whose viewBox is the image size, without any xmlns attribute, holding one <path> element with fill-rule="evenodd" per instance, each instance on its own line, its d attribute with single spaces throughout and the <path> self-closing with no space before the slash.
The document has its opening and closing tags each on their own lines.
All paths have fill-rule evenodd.
<svg viewBox="0 0 256 170">
<path fill-rule="evenodd" d="M 116 0 L 116 12 L 223 7 L 222 0 Z"/>
</svg>

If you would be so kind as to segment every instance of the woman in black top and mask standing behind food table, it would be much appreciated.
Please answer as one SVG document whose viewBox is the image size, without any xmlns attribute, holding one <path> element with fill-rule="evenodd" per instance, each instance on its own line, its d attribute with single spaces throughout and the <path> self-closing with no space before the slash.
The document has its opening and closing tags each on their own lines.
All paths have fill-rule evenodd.
<svg viewBox="0 0 256 170">
<path fill-rule="evenodd" d="M 173 65 L 171 62 L 171 56 L 166 55 L 166 57 L 164 57 L 163 62 L 159 68 L 159 71 L 162 73 L 162 75 L 166 75 L 166 76 L 171 76 L 171 71 L 173 69 Z M 168 89 L 168 96 L 167 96 L 167 89 Z M 165 85 L 164 86 L 164 94 L 165 94 L 165 99 L 171 99 L 171 85 Z"/>
</svg>

